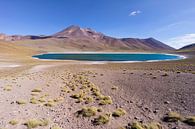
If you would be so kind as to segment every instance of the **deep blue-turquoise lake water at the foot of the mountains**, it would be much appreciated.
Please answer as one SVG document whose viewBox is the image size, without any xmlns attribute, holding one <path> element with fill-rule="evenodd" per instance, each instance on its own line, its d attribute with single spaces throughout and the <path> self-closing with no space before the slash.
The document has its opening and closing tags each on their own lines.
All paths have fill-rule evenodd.
<svg viewBox="0 0 195 129">
<path fill-rule="evenodd" d="M 143 53 L 48 53 L 33 56 L 38 59 L 79 61 L 163 61 L 179 60 L 182 56 L 170 54 Z"/>
</svg>

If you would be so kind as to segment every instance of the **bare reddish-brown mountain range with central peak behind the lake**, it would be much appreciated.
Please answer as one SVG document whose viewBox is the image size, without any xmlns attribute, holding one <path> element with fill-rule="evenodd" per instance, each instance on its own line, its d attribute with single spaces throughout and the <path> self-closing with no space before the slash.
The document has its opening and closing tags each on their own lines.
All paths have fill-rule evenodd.
<svg viewBox="0 0 195 129">
<path fill-rule="evenodd" d="M 123 50 L 123 51 L 172 51 L 174 48 L 154 39 L 115 38 L 90 28 L 70 26 L 50 36 L 7 36 L 0 39 L 40 50 Z"/>
</svg>

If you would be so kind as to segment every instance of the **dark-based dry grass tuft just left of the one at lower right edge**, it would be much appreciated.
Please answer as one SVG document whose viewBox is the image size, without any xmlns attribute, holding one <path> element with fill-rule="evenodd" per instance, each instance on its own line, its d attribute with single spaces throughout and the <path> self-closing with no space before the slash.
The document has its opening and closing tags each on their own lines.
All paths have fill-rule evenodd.
<svg viewBox="0 0 195 129">
<path fill-rule="evenodd" d="M 177 112 L 169 112 L 164 117 L 165 122 L 177 122 L 177 121 L 181 121 L 182 119 L 183 119 L 182 116 Z"/>
</svg>

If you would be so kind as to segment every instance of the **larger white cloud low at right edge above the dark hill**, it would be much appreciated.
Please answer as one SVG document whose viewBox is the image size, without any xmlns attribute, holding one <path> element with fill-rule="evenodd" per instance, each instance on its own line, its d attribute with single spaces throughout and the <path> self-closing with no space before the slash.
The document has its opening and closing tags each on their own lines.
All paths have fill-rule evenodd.
<svg viewBox="0 0 195 129">
<path fill-rule="evenodd" d="M 195 33 L 174 37 L 167 40 L 166 42 L 175 48 L 181 48 L 185 45 L 195 43 Z"/>
</svg>

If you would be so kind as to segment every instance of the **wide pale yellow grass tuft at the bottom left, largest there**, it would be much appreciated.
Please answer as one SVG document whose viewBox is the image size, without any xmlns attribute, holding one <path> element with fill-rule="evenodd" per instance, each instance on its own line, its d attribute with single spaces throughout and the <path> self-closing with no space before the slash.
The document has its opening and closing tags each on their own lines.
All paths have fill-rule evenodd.
<svg viewBox="0 0 195 129">
<path fill-rule="evenodd" d="M 38 126 L 47 126 L 49 121 L 46 119 L 30 119 L 24 123 L 29 129 L 36 128 Z"/>
</svg>

